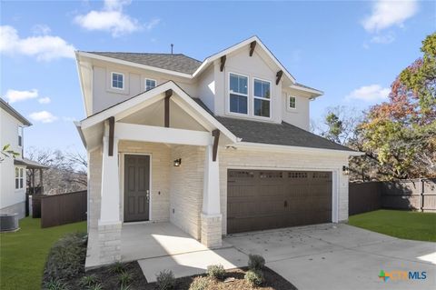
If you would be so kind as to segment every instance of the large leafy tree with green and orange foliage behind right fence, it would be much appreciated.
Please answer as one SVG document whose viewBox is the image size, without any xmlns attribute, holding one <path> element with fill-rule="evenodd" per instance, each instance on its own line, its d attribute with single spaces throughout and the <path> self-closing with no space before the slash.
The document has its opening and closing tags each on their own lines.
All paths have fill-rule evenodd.
<svg viewBox="0 0 436 290">
<path fill-rule="evenodd" d="M 392 83 L 389 101 L 372 106 L 357 128 L 362 149 L 380 163 L 379 179 L 436 177 L 436 34 L 421 51 Z"/>
</svg>

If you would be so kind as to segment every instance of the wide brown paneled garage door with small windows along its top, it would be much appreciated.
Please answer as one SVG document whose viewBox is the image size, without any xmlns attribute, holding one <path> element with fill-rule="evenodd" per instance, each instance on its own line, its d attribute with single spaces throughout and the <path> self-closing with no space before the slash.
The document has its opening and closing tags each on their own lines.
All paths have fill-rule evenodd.
<svg viewBox="0 0 436 290">
<path fill-rule="evenodd" d="M 232 169 L 227 233 L 332 221 L 332 173 Z"/>
</svg>

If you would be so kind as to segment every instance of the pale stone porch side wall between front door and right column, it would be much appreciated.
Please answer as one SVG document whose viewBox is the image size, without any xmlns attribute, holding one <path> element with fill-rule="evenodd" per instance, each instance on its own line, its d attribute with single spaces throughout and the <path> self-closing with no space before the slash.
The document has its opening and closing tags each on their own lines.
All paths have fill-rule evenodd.
<svg viewBox="0 0 436 290">
<path fill-rule="evenodd" d="M 203 147 L 172 146 L 171 160 L 182 158 L 182 165 L 171 167 L 170 221 L 196 239 L 201 238 L 204 155 Z"/>
</svg>

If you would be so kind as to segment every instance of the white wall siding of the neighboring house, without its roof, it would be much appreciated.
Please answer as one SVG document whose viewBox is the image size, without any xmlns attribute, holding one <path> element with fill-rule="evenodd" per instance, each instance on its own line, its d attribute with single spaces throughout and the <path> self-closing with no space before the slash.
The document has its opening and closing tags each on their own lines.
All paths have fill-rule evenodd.
<svg viewBox="0 0 436 290">
<path fill-rule="evenodd" d="M 23 125 L 12 115 L 0 109 L 0 145 L 9 144 L 12 150 L 22 153 L 22 147 L 18 146 L 18 126 Z M 22 159 L 22 156 L 17 156 Z M 20 166 L 24 168 L 25 166 Z M 14 159 L 5 158 L 0 163 L 0 213 L 17 213 L 19 218 L 25 216 L 25 186 L 26 175 L 24 172 L 23 188 L 15 189 L 15 165 Z"/>
</svg>

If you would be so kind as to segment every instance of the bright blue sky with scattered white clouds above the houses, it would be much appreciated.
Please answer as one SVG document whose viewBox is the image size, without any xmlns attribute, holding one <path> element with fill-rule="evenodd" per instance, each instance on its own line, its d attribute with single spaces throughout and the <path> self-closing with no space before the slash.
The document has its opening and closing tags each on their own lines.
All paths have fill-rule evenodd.
<svg viewBox="0 0 436 290">
<path fill-rule="evenodd" d="M 84 118 L 74 49 L 169 52 L 196 59 L 258 35 L 297 81 L 329 106 L 380 103 L 436 29 L 434 2 L 2 1 L 2 97 L 34 124 L 26 146 L 80 151 Z"/>
</svg>

